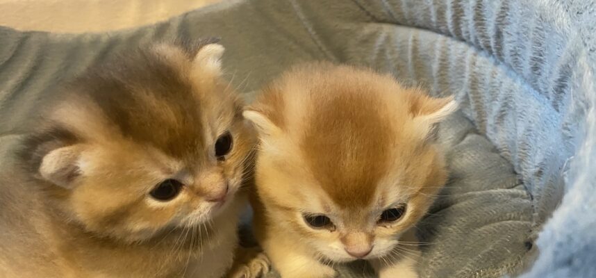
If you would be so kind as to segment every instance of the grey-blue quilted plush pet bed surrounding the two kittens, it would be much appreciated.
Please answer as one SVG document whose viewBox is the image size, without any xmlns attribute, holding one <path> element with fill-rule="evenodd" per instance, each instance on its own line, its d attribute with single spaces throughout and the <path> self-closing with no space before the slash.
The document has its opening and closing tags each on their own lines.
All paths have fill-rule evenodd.
<svg viewBox="0 0 596 278">
<path fill-rule="evenodd" d="M 499 277 L 527 258 L 528 240 L 565 190 L 594 186 L 574 178 L 583 177 L 588 159 L 568 161 L 586 138 L 581 131 L 593 107 L 586 97 L 593 94 L 595 18 L 593 1 L 254 0 L 117 33 L 60 35 L 0 27 L 0 133 L 22 132 L 19 122 L 34 109 L 34 100 L 51 93 L 61 79 L 114 51 L 166 37 L 222 37 L 229 79 L 249 99 L 249 92 L 300 61 L 368 65 L 461 102 L 462 113 L 441 126 L 452 179 L 419 225 L 420 236 L 429 241 L 422 247 L 421 276 Z M 569 171 L 568 184 L 583 186 L 565 187 L 569 165 L 578 168 Z M 571 211 L 593 206 L 581 208 Z M 555 214 L 553 223 L 581 222 L 570 215 Z M 588 223 L 594 223 L 590 217 Z M 545 270 L 553 265 L 596 265 L 594 256 L 586 255 L 590 248 L 573 261 L 566 239 L 556 236 L 561 226 L 547 227 L 547 239 L 538 241 L 541 264 L 527 277 L 547 277 L 553 272 Z M 581 227 L 584 233 L 588 228 L 593 224 Z M 590 240 L 588 247 L 596 244 L 588 234 L 578 237 L 578 243 Z M 342 275 L 363 277 L 368 271 L 356 265 L 342 269 Z M 590 277 L 561 273 L 550 275 Z"/>
</svg>

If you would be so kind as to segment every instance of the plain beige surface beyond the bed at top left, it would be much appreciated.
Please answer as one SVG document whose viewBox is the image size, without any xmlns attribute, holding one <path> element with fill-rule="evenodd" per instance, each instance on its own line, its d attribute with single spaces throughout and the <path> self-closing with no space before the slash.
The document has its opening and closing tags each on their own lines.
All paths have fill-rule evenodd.
<svg viewBox="0 0 596 278">
<path fill-rule="evenodd" d="M 0 0 L 0 26 L 82 33 L 153 24 L 222 0 Z"/>
</svg>

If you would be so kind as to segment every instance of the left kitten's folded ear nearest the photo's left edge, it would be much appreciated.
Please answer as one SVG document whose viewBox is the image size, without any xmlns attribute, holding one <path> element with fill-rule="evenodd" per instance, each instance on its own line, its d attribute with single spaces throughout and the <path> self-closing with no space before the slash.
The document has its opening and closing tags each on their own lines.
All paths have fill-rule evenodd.
<svg viewBox="0 0 596 278">
<path fill-rule="evenodd" d="M 57 186 L 72 188 L 74 179 L 81 175 L 81 151 L 80 145 L 53 149 L 42 158 L 41 176 Z"/>
</svg>

